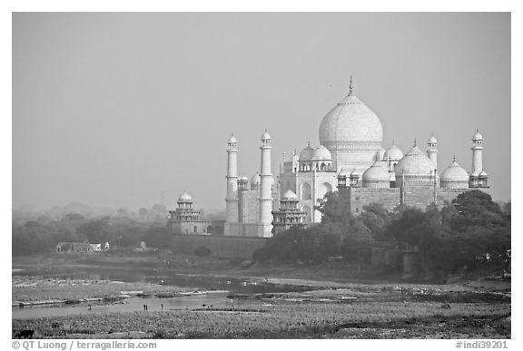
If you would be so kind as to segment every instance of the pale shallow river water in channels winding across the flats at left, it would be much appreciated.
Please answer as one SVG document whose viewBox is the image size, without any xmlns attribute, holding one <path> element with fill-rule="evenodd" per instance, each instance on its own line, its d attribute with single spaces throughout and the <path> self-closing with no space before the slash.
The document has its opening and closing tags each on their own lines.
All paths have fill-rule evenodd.
<svg viewBox="0 0 523 351">
<path fill-rule="evenodd" d="M 303 291 L 307 288 L 271 284 L 265 282 L 252 282 L 247 278 L 226 278 L 215 276 L 200 276 L 192 274 L 173 274 L 163 269 L 141 269 L 140 271 L 115 269 L 115 268 L 14 268 L 13 274 L 18 276 L 39 276 L 44 278 L 74 278 L 113 280 L 123 282 L 147 282 L 172 286 L 177 288 L 192 288 L 199 291 L 208 291 L 207 294 L 181 296 L 181 297 L 130 297 L 123 303 L 99 305 L 92 303 L 91 309 L 85 303 L 79 305 L 63 306 L 33 306 L 13 307 L 12 318 L 35 318 L 35 317 L 60 317 L 71 315 L 101 314 L 109 312 L 133 312 L 141 313 L 173 311 L 204 307 L 242 307 L 244 304 L 253 303 L 266 304 L 264 301 L 249 299 L 228 298 L 231 293 L 255 294 L 269 292 Z M 147 305 L 147 311 L 143 310 Z M 163 305 L 163 306 L 162 306 Z"/>
</svg>

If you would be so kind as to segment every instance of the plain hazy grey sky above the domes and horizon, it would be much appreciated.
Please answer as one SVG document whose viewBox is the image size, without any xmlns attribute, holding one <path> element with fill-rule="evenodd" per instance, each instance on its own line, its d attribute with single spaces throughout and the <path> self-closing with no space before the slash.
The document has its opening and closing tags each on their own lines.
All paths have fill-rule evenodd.
<svg viewBox="0 0 523 351">
<path fill-rule="evenodd" d="M 496 200 L 510 198 L 509 14 L 15 14 L 13 205 L 224 208 L 226 142 L 260 167 L 319 144 L 347 93 L 378 114 L 383 147 L 439 141 L 470 171 L 485 138 Z"/>
</svg>

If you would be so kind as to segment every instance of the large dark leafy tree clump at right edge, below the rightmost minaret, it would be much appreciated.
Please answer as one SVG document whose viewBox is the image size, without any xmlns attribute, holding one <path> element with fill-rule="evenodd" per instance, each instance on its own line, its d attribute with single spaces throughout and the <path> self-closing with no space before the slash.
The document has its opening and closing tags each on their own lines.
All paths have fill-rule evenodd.
<svg viewBox="0 0 523 351">
<path fill-rule="evenodd" d="M 460 194 L 441 210 L 403 209 L 384 234 L 418 249 L 426 274 L 480 264 L 497 268 L 510 260 L 510 218 L 479 190 Z"/>
</svg>

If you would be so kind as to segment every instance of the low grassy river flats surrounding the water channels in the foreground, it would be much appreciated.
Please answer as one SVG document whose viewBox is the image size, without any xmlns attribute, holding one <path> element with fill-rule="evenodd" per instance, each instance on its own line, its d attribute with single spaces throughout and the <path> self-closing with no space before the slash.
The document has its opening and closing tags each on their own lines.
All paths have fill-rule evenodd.
<svg viewBox="0 0 523 351">
<path fill-rule="evenodd" d="M 125 265 L 114 267 L 113 262 L 117 260 Z M 509 280 L 462 279 L 455 284 L 439 285 L 383 278 L 360 279 L 350 274 L 332 279 L 317 274 L 318 270 L 326 269 L 321 266 L 242 268 L 241 262 L 173 254 L 99 258 L 51 255 L 14 258 L 13 266 L 14 304 L 15 301 L 31 303 L 68 298 L 102 298 L 99 303 L 104 304 L 110 303 L 109 300 L 104 302 L 104 297 L 122 296 L 124 300 L 124 296 L 151 294 L 175 298 L 206 293 L 194 288 L 143 282 L 21 275 L 51 268 L 67 268 L 73 272 L 81 267 L 140 268 L 165 276 L 243 278 L 251 284 L 289 285 L 296 290 L 301 287 L 300 291 L 290 288 L 291 292 L 284 293 L 232 292 L 228 298 L 242 300 L 241 305 L 232 307 L 13 319 L 14 336 L 22 330 L 35 330 L 38 338 L 492 339 L 511 336 Z"/>
</svg>

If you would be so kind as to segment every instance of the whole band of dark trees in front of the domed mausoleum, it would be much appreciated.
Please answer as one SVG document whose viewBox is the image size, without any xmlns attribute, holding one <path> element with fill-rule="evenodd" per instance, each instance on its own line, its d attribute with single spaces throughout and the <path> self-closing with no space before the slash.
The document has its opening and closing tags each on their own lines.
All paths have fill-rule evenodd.
<svg viewBox="0 0 523 351">
<path fill-rule="evenodd" d="M 329 258 L 370 263 L 379 244 L 419 252 L 425 273 L 440 275 L 480 265 L 506 268 L 510 262 L 510 202 L 503 208 L 490 195 L 470 190 L 442 208 L 418 210 L 380 204 L 365 206 L 360 215 L 337 193 L 328 193 L 317 208 L 321 223 L 291 229 L 269 239 L 254 252 L 259 262 L 317 264 Z"/>
</svg>

